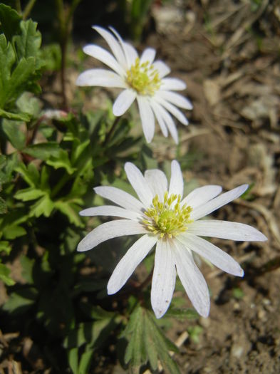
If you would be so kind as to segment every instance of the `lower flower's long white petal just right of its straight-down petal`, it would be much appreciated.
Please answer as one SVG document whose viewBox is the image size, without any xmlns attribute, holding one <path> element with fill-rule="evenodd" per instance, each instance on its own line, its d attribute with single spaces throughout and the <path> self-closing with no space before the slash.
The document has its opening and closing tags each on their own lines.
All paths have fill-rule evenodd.
<svg viewBox="0 0 280 374">
<path fill-rule="evenodd" d="M 197 312 L 207 317 L 209 315 L 210 299 L 206 281 L 199 271 L 190 251 L 175 239 L 175 264 L 182 285 Z"/>
</svg>

